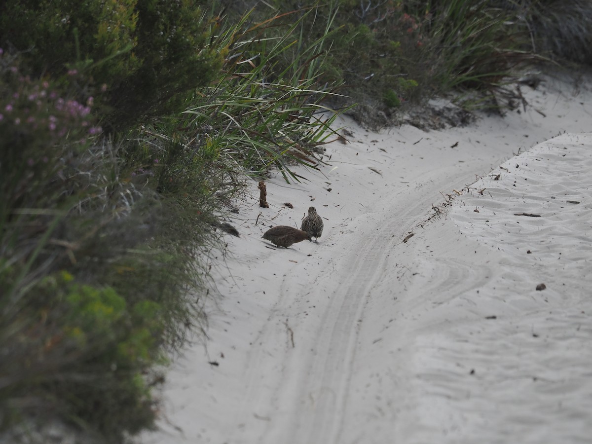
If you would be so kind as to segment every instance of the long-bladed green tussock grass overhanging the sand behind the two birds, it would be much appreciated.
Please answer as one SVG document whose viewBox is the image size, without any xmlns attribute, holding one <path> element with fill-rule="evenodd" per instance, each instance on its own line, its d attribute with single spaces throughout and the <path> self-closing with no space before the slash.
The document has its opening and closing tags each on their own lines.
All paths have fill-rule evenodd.
<svg viewBox="0 0 592 444">
<path fill-rule="evenodd" d="M 259 177 L 274 166 L 299 181 L 291 163 L 316 168 L 314 150 L 333 134 L 336 111 L 324 102 L 339 86 L 321 83 L 330 21 L 304 38 L 316 8 L 276 14 L 256 24 L 243 15 L 214 44 L 227 49 L 220 78 L 189 102 L 181 125 L 221 163 Z"/>
</svg>

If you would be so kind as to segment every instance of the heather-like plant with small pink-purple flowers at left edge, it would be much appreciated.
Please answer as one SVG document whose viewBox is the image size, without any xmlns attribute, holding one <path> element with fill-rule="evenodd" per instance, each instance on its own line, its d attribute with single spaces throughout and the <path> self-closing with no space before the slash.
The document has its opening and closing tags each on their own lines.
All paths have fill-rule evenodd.
<svg viewBox="0 0 592 444">
<path fill-rule="evenodd" d="M 61 185 L 50 178 L 67 168 L 63 155 L 73 159 L 101 128 L 91 118 L 92 97 L 85 104 L 65 98 L 53 82 L 24 75 L 14 57 L 0 57 L 0 220 L 6 220 L 9 208 L 54 198 L 52 186 Z"/>
</svg>

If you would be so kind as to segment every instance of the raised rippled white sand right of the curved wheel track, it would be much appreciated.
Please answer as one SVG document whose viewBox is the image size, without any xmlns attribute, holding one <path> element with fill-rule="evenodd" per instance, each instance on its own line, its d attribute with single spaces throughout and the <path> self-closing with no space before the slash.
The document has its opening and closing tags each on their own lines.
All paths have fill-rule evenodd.
<svg viewBox="0 0 592 444">
<path fill-rule="evenodd" d="M 414 442 L 433 427 L 439 442 L 590 442 L 592 134 L 539 144 L 469 188 L 448 216 L 494 250 L 497 272 L 472 292 L 479 309 L 458 311 L 491 317 L 417 338 Z"/>
</svg>

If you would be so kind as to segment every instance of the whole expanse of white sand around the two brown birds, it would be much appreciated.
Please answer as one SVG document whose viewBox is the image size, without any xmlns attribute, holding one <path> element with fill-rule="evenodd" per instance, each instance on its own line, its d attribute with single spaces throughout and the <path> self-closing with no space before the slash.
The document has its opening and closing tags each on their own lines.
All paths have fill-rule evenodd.
<svg viewBox="0 0 592 444">
<path fill-rule="evenodd" d="M 213 259 L 209 339 L 140 442 L 590 442 L 592 94 L 523 92 L 526 112 L 466 128 L 342 120 L 350 143 L 309 182 L 270 179 L 268 209 L 253 183 Z M 260 239 L 310 205 L 318 244 Z"/>
</svg>

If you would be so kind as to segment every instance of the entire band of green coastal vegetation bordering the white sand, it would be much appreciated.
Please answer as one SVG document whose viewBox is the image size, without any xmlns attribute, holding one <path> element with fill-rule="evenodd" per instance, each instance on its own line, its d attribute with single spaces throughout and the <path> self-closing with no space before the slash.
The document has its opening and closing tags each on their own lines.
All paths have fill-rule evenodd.
<svg viewBox="0 0 592 444">
<path fill-rule="evenodd" d="M 255 3 L 0 5 L 0 440 L 153 427 L 227 208 L 317 168 L 333 110 L 498 107 L 520 67 L 592 60 L 584 0 Z"/>
</svg>

